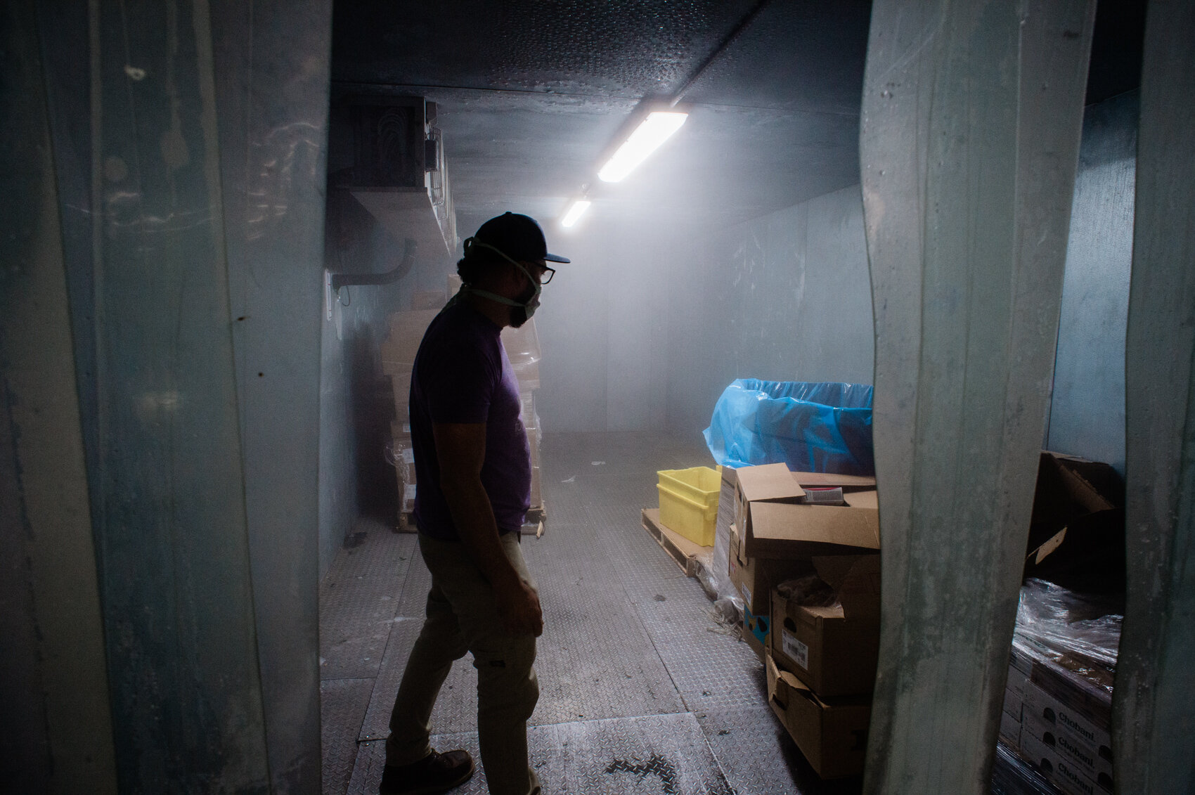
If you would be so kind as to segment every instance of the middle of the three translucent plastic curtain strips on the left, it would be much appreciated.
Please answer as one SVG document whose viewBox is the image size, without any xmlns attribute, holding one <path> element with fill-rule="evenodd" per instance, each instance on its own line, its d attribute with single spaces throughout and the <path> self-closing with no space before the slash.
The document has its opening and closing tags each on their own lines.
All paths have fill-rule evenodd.
<svg viewBox="0 0 1195 795">
<path fill-rule="evenodd" d="M 214 43 L 91 6 L 96 537 L 122 791 L 269 787 Z"/>
</svg>

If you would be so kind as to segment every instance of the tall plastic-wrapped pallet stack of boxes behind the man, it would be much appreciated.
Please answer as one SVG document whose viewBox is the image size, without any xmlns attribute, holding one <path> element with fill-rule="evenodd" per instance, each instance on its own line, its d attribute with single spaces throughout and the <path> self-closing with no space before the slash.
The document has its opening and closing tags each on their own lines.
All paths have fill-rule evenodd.
<svg viewBox="0 0 1195 795">
<path fill-rule="evenodd" d="M 394 421 L 391 423 L 390 451 L 398 477 L 398 521 L 400 527 L 410 526 L 417 488 L 409 414 L 415 354 L 419 350 L 419 343 L 423 341 L 423 334 L 428 325 L 459 287 L 460 280 L 452 276 L 448 280 L 447 293 L 441 291 L 415 293 L 411 298 L 410 310 L 391 313 L 387 335 L 380 348 L 381 372 L 390 377 L 394 395 Z M 540 424 L 539 415 L 535 412 L 535 390 L 539 389 L 540 360 L 535 322 L 528 320 L 519 329 L 503 329 L 502 344 L 519 379 L 520 417 L 527 429 L 527 442 L 531 447 L 532 509 L 528 512 L 527 520 L 538 524 L 544 518 L 544 500 L 539 473 Z"/>
</svg>

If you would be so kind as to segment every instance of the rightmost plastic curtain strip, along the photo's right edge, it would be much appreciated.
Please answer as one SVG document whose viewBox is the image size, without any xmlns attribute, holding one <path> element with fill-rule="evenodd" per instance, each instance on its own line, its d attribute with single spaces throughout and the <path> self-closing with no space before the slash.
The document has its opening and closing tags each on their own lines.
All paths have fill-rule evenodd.
<svg viewBox="0 0 1195 795">
<path fill-rule="evenodd" d="M 1128 588 L 1113 703 L 1121 793 L 1195 789 L 1195 6 L 1150 4 L 1124 351 Z"/>
</svg>

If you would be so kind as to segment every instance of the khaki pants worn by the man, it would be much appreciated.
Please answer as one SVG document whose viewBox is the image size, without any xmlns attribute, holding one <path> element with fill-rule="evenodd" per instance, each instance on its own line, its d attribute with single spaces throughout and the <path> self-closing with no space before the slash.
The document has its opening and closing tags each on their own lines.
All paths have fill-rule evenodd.
<svg viewBox="0 0 1195 795">
<path fill-rule="evenodd" d="M 532 587 L 517 533 L 502 549 Z M 482 765 L 494 795 L 537 795 L 539 779 L 527 764 L 527 718 L 539 699 L 535 637 L 509 635 L 498 620 L 494 589 L 459 543 L 419 533 L 419 551 L 431 571 L 427 620 L 411 649 L 394 698 L 386 764 L 405 765 L 428 756 L 431 708 L 453 660 L 473 653 L 477 668 L 477 735 Z"/>
</svg>

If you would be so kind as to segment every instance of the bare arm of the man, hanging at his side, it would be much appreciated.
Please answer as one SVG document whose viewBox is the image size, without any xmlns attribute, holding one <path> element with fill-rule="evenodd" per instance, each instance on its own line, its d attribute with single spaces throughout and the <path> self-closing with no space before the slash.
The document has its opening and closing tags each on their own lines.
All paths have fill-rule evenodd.
<svg viewBox="0 0 1195 795">
<path fill-rule="evenodd" d="M 502 550 L 494 507 L 482 485 L 485 423 L 434 423 L 431 433 L 440 458 L 440 489 L 461 543 L 494 587 L 502 623 L 511 634 L 538 636 L 544 631 L 539 597 Z"/>
</svg>

